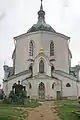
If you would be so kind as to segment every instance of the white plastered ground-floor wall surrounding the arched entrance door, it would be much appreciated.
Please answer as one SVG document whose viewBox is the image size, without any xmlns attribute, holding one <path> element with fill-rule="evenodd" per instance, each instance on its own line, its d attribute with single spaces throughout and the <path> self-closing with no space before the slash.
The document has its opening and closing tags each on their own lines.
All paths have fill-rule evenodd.
<svg viewBox="0 0 80 120">
<path fill-rule="evenodd" d="M 39 94 L 38 94 L 38 87 L 39 84 L 42 82 L 45 85 L 45 99 L 56 99 L 56 92 L 57 91 L 61 91 L 61 83 L 60 81 L 57 81 L 56 79 L 47 79 L 47 78 L 43 78 L 43 79 L 39 79 L 39 78 L 35 78 L 35 79 L 29 79 L 28 81 L 24 81 L 24 83 L 31 83 L 32 88 L 28 89 L 28 95 L 31 98 L 39 98 Z M 52 84 L 55 83 L 54 85 L 54 89 L 52 89 Z M 57 85 L 57 83 L 59 83 L 59 86 Z"/>
</svg>

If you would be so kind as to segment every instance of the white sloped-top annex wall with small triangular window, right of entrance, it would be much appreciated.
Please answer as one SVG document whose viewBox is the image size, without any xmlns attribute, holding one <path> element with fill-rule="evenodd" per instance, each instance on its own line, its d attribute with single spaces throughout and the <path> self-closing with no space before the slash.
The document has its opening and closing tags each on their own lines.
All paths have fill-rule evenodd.
<svg viewBox="0 0 80 120">
<path fill-rule="evenodd" d="M 73 79 L 73 77 L 72 77 L 72 79 L 70 79 L 69 76 L 65 77 L 65 74 L 64 74 L 64 76 L 61 76 L 61 75 L 58 75 L 55 73 L 53 75 L 62 81 L 62 96 L 63 97 L 77 98 L 77 96 L 78 96 L 77 81 L 75 79 Z M 67 83 L 69 83 L 71 85 L 71 87 L 66 87 Z"/>
</svg>

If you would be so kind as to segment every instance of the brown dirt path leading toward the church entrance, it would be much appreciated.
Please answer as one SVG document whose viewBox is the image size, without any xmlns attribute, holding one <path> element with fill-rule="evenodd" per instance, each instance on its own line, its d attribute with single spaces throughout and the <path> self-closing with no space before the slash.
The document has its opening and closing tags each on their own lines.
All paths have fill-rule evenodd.
<svg viewBox="0 0 80 120">
<path fill-rule="evenodd" d="M 54 102 L 46 101 L 37 108 L 28 109 L 28 120 L 59 120 Z"/>
</svg>

